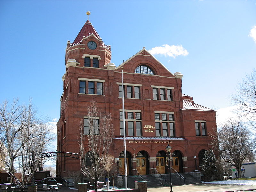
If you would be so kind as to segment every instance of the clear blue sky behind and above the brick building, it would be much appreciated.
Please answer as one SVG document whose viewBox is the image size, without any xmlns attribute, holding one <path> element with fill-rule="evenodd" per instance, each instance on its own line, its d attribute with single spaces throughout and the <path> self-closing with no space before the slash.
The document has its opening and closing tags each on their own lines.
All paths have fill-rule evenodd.
<svg viewBox="0 0 256 192">
<path fill-rule="evenodd" d="M 184 75 L 184 94 L 209 108 L 230 107 L 229 95 L 256 66 L 255 0 L 2 0 L 1 102 L 31 97 L 38 111 L 59 119 L 65 48 L 87 20 L 86 11 L 111 45 L 116 66 L 144 46 L 182 47 L 175 58 L 173 49 L 163 48 L 154 56 L 172 73 Z"/>
</svg>

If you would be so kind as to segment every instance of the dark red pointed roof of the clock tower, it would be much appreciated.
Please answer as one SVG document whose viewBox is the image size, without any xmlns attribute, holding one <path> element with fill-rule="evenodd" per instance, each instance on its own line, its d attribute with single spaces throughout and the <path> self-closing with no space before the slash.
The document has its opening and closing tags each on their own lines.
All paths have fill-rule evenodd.
<svg viewBox="0 0 256 192">
<path fill-rule="evenodd" d="M 76 36 L 75 40 L 71 44 L 71 46 L 76 45 L 76 44 L 82 44 L 83 36 L 87 37 L 87 36 L 90 36 L 91 34 L 93 34 L 95 37 L 97 37 L 99 40 L 101 40 L 99 34 L 95 30 L 95 28 L 92 26 L 92 23 L 89 20 L 87 20 L 84 23 L 84 26 L 82 27 L 82 29 L 80 30 L 78 35 Z M 107 47 L 103 43 L 103 41 L 102 41 L 102 46 Z"/>
</svg>

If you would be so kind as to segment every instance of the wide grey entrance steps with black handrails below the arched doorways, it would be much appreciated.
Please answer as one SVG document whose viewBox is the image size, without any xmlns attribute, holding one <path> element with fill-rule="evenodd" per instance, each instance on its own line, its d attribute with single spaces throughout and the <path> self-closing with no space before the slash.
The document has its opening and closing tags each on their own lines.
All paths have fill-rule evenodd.
<svg viewBox="0 0 256 192">
<path fill-rule="evenodd" d="M 193 176 L 187 173 L 180 173 L 185 178 L 185 184 L 193 184 L 193 183 L 200 183 L 199 180 L 196 180 Z M 160 186 L 170 186 L 170 174 L 162 174 L 163 178 L 166 180 L 161 179 L 160 176 L 155 175 L 142 175 L 143 179 L 147 181 L 148 188 L 150 187 L 160 187 Z M 128 188 L 134 188 L 134 181 L 142 181 L 138 176 L 128 176 L 127 177 L 127 186 Z M 175 173 L 172 173 L 172 185 L 184 185 L 184 180 L 180 179 L 180 176 L 176 176 Z M 125 181 L 123 176 L 123 187 L 125 188 Z"/>
</svg>

